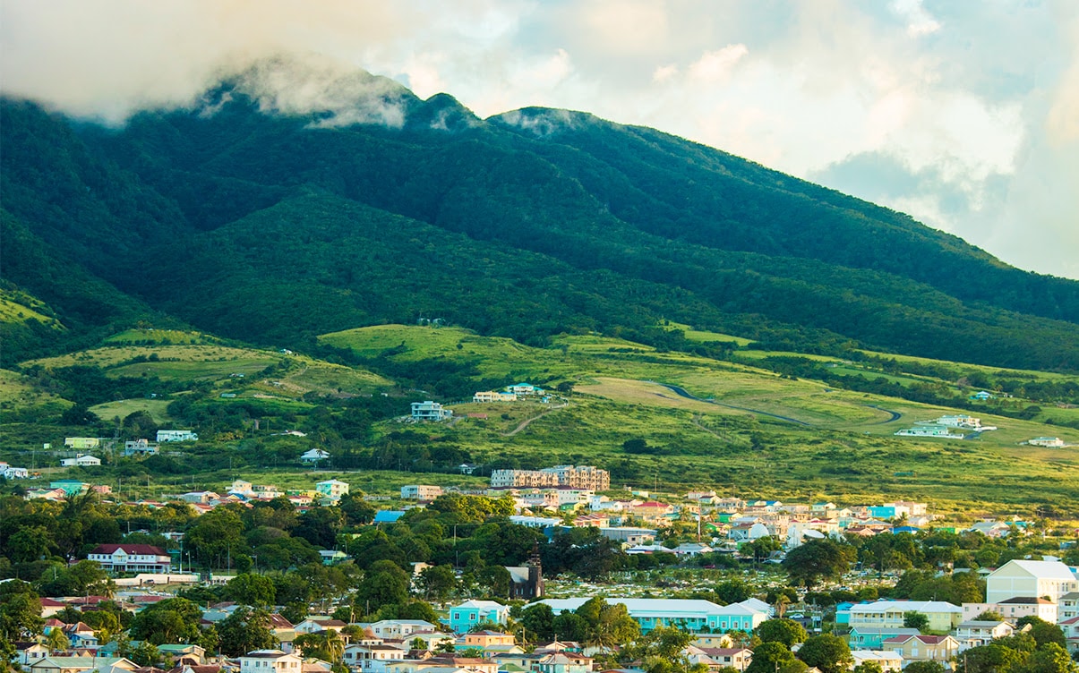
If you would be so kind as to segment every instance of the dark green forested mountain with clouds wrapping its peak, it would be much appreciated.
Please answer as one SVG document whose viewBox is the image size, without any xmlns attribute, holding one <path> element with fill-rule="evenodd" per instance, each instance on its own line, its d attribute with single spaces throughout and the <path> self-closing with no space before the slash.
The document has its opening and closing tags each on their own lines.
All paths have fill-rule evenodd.
<svg viewBox="0 0 1079 673">
<path fill-rule="evenodd" d="M 442 318 L 679 348 L 658 327 L 673 320 L 774 348 L 1079 369 L 1079 283 L 905 215 L 587 113 L 480 120 L 363 72 L 286 85 L 308 74 L 263 64 L 122 128 L 3 100 L 4 280 L 69 327 L 297 347 Z"/>
</svg>

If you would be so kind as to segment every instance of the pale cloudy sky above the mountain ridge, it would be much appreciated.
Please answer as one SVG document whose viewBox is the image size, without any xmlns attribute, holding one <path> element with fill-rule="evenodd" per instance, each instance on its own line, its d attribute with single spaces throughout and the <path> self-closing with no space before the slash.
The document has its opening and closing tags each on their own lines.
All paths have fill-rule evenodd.
<svg viewBox="0 0 1079 673">
<path fill-rule="evenodd" d="M 652 126 L 1079 279 L 1076 0 L 0 0 L 0 90 L 113 124 L 281 55 Z"/>
</svg>

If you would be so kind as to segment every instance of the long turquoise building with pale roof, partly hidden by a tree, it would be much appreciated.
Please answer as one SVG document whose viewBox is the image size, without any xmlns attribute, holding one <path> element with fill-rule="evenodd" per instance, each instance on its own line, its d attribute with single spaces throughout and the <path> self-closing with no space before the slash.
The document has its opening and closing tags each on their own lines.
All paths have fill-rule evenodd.
<svg viewBox="0 0 1079 673">
<path fill-rule="evenodd" d="M 588 599 L 546 599 L 551 610 L 559 615 L 573 612 L 585 604 Z M 768 614 L 754 605 L 732 603 L 720 606 L 711 601 L 693 599 L 624 599 L 607 598 L 609 604 L 620 603 L 626 606 L 629 616 L 640 626 L 643 633 L 657 627 L 678 627 L 700 632 L 706 629 L 713 632 L 752 631 L 761 626 Z"/>
</svg>

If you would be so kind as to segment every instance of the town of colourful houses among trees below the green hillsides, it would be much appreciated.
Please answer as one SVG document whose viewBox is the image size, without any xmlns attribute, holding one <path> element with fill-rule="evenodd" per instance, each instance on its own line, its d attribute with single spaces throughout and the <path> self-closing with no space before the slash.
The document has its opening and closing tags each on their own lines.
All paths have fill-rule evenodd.
<svg viewBox="0 0 1079 673">
<path fill-rule="evenodd" d="M 166 430 L 123 451 L 193 438 Z M 93 467 L 86 457 L 72 465 Z M 9 497 L 16 578 L 0 582 L 0 636 L 11 665 L 968 673 L 994 670 L 1006 647 L 1056 657 L 1039 671 L 1074 671 L 1079 657 L 1079 548 L 1044 521 L 959 524 L 904 500 L 619 491 L 588 465 L 393 495 L 341 479 L 306 490 L 236 479 L 222 491 L 122 502 L 60 479 L 25 490 L 21 506 Z M 57 553 L 59 566 L 44 561 Z"/>
</svg>

